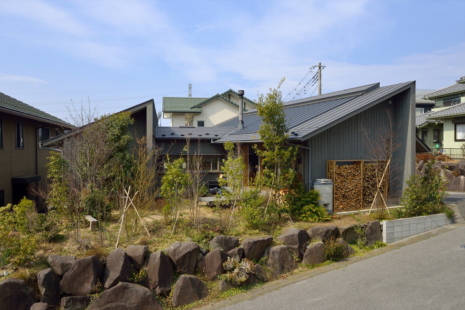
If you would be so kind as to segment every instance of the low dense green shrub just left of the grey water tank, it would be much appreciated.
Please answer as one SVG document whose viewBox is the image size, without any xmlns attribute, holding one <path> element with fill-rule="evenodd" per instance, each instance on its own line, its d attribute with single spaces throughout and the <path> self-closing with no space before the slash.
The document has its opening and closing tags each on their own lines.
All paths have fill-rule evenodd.
<svg viewBox="0 0 465 310">
<path fill-rule="evenodd" d="M 318 206 L 319 192 L 306 191 L 304 185 L 298 185 L 286 195 L 286 204 L 293 217 L 306 216 L 310 207 Z"/>
</svg>

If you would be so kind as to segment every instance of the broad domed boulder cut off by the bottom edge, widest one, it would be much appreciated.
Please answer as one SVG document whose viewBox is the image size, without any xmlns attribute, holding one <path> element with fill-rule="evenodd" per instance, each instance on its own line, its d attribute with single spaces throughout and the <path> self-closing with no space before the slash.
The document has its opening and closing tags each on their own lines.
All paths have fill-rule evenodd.
<svg viewBox="0 0 465 310">
<path fill-rule="evenodd" d="M 163 310 L 149 289 L 139 284 L 120 282 L 95 297 L 87 310 Z"/>
</svg>

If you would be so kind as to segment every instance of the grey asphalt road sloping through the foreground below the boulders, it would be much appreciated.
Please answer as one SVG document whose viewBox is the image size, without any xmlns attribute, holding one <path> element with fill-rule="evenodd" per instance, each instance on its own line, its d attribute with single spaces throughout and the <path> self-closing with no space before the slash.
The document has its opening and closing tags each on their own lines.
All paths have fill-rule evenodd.
<svg viewBox="0 0 465 310">
<path fill-rule="evenodd" d="M 465 309 L 465 227 L 223 308 Z"/>
</svg>

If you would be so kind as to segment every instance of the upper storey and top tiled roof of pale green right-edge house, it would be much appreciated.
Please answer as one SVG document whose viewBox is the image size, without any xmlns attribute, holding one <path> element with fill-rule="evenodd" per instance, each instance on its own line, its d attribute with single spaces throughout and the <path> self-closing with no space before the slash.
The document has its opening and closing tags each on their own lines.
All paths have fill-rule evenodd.
<svg viewBox="0 0 465 310">
<path fill-rule="evenodd" d="M 455 84 L 441 88 L 437 91 L 425 94 L 423 99 L 434 100 L 432 111 L 437 111 L 448 106 L 465 102 L 465 76 L 456 81 Z"/>
</svg>

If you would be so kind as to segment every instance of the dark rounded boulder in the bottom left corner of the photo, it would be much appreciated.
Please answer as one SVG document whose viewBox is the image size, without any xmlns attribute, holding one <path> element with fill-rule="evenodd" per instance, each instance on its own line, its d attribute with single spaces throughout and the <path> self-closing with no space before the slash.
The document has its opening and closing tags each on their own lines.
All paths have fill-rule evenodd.
<svg viewBox="0 0 465 310">
<path fill-rule="evenodd" d="M 0 309 L 29 310 L 37 302 L 33 290 L 21 279 L 0 282 Z"/>
</svg>

